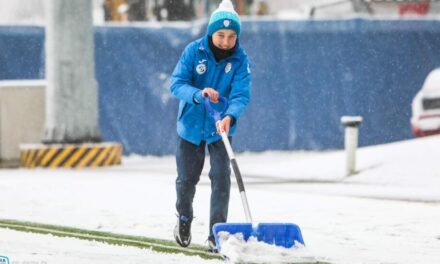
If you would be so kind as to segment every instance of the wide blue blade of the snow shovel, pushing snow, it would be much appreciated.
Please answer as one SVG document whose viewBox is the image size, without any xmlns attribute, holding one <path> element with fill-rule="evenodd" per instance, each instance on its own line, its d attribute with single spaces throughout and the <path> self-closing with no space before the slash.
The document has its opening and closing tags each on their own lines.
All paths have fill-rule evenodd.
<svg viewBox="0 0 440 264">
<path fill-rule="evenodd" d="M 261 223 L 253 229 L 252 224 L 235 224 L 235 223 L 219 223 L 212 227 L 214 232 L 217 248 L 221 250 L 221 239 L 219 232 L 225 231 L 229 234 L 242 233 L 244 240 L 248 240 L 250 236 L 254 236 L 258 241 L 267 244 L 291 248 L 295 245 L 295 241 L 304 245 L 301 229 L 296 224 L 281 223 Z"/>
</svg>

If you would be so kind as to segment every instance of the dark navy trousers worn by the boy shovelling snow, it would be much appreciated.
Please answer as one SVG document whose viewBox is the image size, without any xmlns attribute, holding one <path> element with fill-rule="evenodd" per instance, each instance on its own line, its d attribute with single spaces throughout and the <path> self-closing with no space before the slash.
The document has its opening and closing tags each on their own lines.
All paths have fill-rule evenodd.
<svg viewBox="0 0 440 264">
<path fill-rule="evenodd" d="M 179 215 L 193 217 L 192 203 L 205 163 L 206 142 L 202 141 L 197 146 L 180 137 L 177 141 L 176 209 Z M 211 180 L 209 235 L 212 236 L 212 226 L 226 222 L 228 217 L 231 169 L 225 145 L 221 140 L 208 144 L 208 151 L 211 165 L 209 170 Z"/>
</svg>

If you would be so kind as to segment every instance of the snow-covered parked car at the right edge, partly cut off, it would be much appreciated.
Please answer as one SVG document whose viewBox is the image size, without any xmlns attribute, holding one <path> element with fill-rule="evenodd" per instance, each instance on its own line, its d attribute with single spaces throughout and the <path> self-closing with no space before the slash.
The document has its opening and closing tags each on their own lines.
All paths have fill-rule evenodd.
<svg viewBox="0 0 440 264">
<path fill-rule="evenodd" d="M 428 74 L 414 97 L 411 126 L 416 137 L 440 134 L 440 68 Z"/>
</svg>

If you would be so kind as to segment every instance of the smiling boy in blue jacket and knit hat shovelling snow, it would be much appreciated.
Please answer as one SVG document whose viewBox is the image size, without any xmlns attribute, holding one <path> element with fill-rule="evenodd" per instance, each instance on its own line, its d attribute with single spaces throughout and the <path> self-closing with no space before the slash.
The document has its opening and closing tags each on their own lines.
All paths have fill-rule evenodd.
<svg viewBox="0 0 440 264">
<path fill-rule="evenodd" d="M 177 115 L 176 209 L 178 220 L 174 237 L 179 245 L 191 243 L 192 202 L 205 161 L 210 154 L 211 209 L 208 244 L 215 251 L 212 226 L 226 222 L 231 187 L 230 164 L 220 135 L 233 136 L 237 120 L 250 98 L 250 66 L 240 47 L 241 22 L 230 0 L 223 0 L 209 20 L 205 37 L 190 43 L 174 69 L 171 92 L 179 100 Z M 222 120 L 215 121 L 205 111 L 204 97 L 217 103 L 228 99 Z M 221 109 L 221 106 L 216 106 Z"/>
</svg>

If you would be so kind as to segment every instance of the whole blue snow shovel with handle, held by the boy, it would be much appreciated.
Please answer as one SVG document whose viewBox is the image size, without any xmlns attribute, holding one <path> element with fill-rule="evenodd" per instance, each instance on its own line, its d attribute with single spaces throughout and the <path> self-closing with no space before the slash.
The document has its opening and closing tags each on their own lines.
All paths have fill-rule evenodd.
<svg viewBox="0 0 440 264">
<path fill-rule="evenodd" d="M 228 100 L 225 97 L 219 98 L 220 103 L 223 104 L 223 110 L 221 112 L 216 111 L 208 97 L 205 97 L 205 108 L 206 111 L 212 116 L 217 123 L 221 120 L 224 112 L 228 108 Z M 246 197 L 246 192 L 244 189 L 243 179 L 241 177 L 240 170 L 238 168 L 237 161 L 232 151 L 231 144 L 228 139 L 226 132 L 221 131 L 220 133 L 223 143 L 225 144 L 226 151 L 229 156 L 229 160 L 232 165 L 232 169 L 237 180 L 238 189 L 240 191 L 241 202 L 243 204 L 244 213 L 246 216 L 247 223 L 217 223 L 213 226 L 213 233 L 215 237 L 215 242 L 217 249 L 221 252 L 221 239 L 219 233 L 224 231 L 231 235 L 241 233 L 243 239 L 247 241 L 249 237 L 256 237 L 258 241 L 281 246 L 285 248 L 291 248 L 295 245 L 295 241 L 304 245 L 304 240 L 302 238 L 301 230 L 298 225 L 292 223 L 259 223 L 256 224 L 252 221 L 251 211 L 249 209 L 249 204 Z"/>
</svg>

